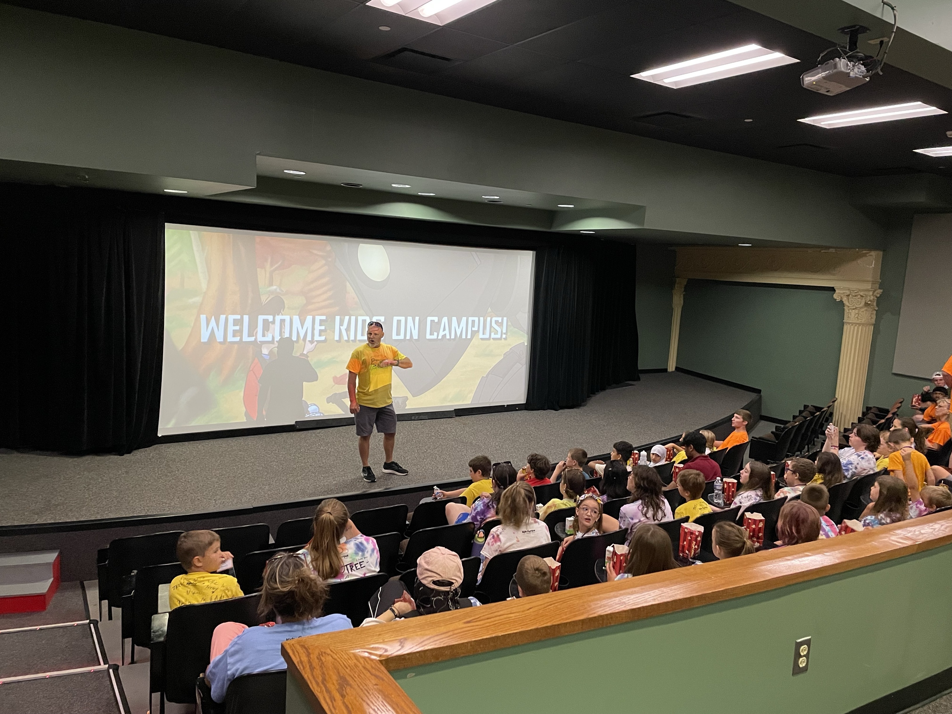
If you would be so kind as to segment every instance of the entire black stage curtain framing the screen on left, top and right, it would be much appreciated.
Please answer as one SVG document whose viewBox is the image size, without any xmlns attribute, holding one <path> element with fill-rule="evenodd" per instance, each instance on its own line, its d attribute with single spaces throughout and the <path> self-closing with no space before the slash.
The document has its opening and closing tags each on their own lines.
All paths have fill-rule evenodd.
<svg viewBox="0 0 952 714">
<path fill-rule="evenodd" d="M 526 407 L 578 407 L 638 379 L 632 245 L 84 188 L 0 185 L 0 200 L 12 258 L 0 447 L 129 453 L 157 441 L 166 221 L 535 250 Z"/>
</svg>

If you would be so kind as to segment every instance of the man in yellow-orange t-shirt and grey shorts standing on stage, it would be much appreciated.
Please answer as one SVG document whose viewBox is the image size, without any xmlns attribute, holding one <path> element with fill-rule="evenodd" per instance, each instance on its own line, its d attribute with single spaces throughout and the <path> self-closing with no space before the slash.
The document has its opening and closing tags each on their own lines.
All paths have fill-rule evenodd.
<svg viewBox="0 0 952 714">
<path fill-rule="evenodd" d="M 390 384 L 393 367 L 413 367 L 408 357 L 392 345 L 384 345 L 384 326 L 378 322 L 367 323 L 367 345 L 357 347 L 347 363 L 347 394 L 350 396 L 350 413 L 354 415 L 357 436 L 360 437 L 360 460 L 364 464 L 364 481 L 372 484 L 377 480 L 369 466 L 370 434 L 377 425 L 377 433 L 384 434 L 384 473 L 406 475 L 407 469 L 393 460 L 393 441 L 397 435 L 397 414 L 393 410 Z M 359 384 L 358 384 L 359 378 Z"/>
</svg>

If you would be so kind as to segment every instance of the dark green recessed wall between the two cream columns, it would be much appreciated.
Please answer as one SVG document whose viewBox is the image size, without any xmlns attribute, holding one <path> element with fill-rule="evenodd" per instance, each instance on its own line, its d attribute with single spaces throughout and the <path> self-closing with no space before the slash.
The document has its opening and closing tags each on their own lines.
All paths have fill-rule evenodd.
<svg viewBox="0 0 952 714">
<path fill-rule="evenodd" d="M 688 280 L 678 367 L 763 390 L 763 413 L 789 419 L 836 393 L 843 305 L 833 288 Z"/>
</svg>

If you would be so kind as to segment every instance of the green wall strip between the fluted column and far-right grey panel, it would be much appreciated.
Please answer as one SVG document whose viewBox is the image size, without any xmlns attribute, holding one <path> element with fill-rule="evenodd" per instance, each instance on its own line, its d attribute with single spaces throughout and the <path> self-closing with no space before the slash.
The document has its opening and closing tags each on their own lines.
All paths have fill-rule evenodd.
<svg viewBox="0 0 952 714">
<path fill-rule="evenodd" d="M 912 395 L 922 389 L 922 385 L 925 384 L 921 379 L 893 374 L 892 371 L 911 231 L 911 216 L 897 220 L 886 230 L 883 269 L 880 273 L 880 288 L 883 294 L 877 301 L 879 309 L 876 313 L 869 372 L 866 376 L 865 404 L 890 407 L 897 399 L 905 397 L 902 415 L 912 413 L 912 410 L 908 408 Z"/>
</svg>

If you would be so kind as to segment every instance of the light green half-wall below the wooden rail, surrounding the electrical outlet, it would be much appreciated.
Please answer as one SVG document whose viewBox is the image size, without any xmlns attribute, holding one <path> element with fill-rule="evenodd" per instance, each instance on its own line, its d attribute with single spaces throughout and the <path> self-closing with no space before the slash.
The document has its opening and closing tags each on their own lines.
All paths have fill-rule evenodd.
<svg viewBox="0 0 952 714">
<path fill-rule="evenodd" d="M 952 610 L 933 608 L 922 619 L 922 604 L 950 587 L 946 546 L 393 675 L 424 714 L 847 712 L 952 666 Z M 809 671 L 793 677 L 794 642 L 802 637 L 813 638 Z"/>
</svg>

